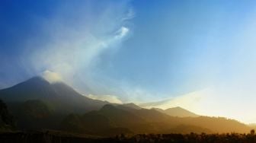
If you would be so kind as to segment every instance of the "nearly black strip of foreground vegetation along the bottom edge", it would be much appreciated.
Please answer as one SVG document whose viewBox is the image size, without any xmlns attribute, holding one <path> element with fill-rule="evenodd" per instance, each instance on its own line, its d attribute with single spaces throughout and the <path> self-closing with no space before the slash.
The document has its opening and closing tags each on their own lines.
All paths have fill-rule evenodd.
<svg viewBox="0 0 256 143">
<path fill-rule="evenodd" d="M 256 135 L 249 134 L 139 134 L 116 135 L 114 137 L 96 137 L 88 135 L 72 135 L 61 132 L 5 132 L 0 133 L 3 143 L 84 143 L 84 142 L 171 142 L 171 143 L 253 143 Z"/>
</svg>

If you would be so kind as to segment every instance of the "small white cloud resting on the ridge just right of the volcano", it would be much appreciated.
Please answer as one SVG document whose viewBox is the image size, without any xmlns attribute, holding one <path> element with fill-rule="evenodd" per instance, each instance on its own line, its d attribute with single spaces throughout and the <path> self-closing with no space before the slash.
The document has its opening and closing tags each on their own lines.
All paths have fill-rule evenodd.
<svg viewBox="0 0 256 143">
<path fill-rule="evenodd" d="M 87 97 L 94 100 L 103 100 L 108 101 L 110 103 L 123 103 L 117 96 L 114 95 L 93 95 L 89 94 Z"/>
</svg>

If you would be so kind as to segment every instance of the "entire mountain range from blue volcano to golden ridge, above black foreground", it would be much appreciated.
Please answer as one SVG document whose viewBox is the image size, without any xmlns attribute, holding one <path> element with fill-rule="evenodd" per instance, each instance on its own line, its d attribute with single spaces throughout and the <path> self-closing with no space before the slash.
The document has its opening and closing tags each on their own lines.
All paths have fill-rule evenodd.
<svg viewBox="0 0 256 143">
<path fill-rule="evenodd" d="M 181 107 L 147 110 L 134 103 L 93 100 L 65 83 L 50 84 L 40 77 L 1 90 L 0 99 L 7 103 L 18 129 L 55 129 L 88 135 L 250 130 L 233 119 L 199 116 Z"/>
</svg>

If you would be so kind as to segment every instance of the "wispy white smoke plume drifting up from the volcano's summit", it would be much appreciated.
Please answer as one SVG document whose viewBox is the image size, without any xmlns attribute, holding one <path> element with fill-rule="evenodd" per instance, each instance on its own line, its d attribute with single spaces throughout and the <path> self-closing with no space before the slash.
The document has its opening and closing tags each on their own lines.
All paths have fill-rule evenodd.
<svg viewBox="0 0 256 143">
<path fill-rule="evenodd" d="M 53 71 L 69 84 L 94 82 L 91 74 L 101 62 L 101 55 L 118 49 L 129 35 L 126 24 L 134 11 L 128 2 L 111 3 L 97 12 L 93 7 L 60 5 L 51 17 L 35 18 L 40 36 L 27 40 L 21 54 L 26 57 L 22 62 L 27 71 L 35 75 Z M 63 17 L 66 11 L 72 11 L 72 17 Z"/>
</svg>

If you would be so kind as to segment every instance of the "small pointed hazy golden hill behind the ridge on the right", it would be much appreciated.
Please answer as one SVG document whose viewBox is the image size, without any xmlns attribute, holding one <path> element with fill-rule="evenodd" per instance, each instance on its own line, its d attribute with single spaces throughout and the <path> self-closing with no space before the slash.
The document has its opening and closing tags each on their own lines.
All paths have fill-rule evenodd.
<svg viewBox="0 0 256 143">
<path fill-rule="evenodd" d="M 158 110 L 161 113 L 166 113 L 169 116 L 179 116 L 179 117 L 187 117 L 187 116 L 191 116 L 191 117 L 197 117 L 199 115 L 192 113 L 188 110 L 184 110 L 183 108 L 177 106 L 174 108 L 168 108 L 167 110 L 162 110 L 159 108 L 153 108 L 154 110 Z"/>
</svg>

